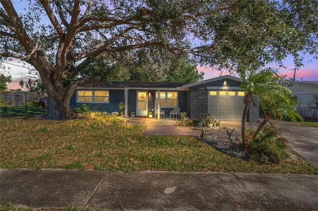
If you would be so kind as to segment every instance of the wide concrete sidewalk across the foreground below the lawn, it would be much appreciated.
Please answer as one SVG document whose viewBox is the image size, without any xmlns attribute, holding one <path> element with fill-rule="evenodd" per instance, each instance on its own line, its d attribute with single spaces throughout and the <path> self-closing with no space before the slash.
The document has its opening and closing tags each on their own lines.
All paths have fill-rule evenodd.
<svg viewBox="0 0 318 211">
<path fill-rule="evenodd" d="M 0 169 L 0 202 L 34 209 L 317 211 L 318 175 Z"/>
</svg>

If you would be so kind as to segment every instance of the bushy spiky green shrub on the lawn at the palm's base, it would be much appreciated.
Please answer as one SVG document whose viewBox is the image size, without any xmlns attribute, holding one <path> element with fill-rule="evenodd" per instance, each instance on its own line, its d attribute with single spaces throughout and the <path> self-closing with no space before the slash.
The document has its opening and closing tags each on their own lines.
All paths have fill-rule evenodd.
<svg viewBox="0 0 318 211">
<path fill-rule="evenodd" d="M 270 126 L 264 127 L 258 135 L 253 131 L 246 133 L 242 148 L 250 153 L 250 159 L 270 163 L 289 158 L 287 140 L 280 136 L 281 130 Z"/>
</svg>

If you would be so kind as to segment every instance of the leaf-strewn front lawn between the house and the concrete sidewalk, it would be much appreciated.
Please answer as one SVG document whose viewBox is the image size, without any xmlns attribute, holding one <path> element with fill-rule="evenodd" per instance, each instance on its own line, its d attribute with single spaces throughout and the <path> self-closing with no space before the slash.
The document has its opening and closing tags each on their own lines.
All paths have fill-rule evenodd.
<svg viewBox="0 0 318 211">
<path fill-rule="evenodd" d="M 124 125 L 114 117 L 55 121 L 1 116 L 0 127 L 0 167 L 6 169 L 318 173 L 304 160 L 269 165 L 233 158 L 192 136 L 145 136 L 146 126 Z"/>
</svg>

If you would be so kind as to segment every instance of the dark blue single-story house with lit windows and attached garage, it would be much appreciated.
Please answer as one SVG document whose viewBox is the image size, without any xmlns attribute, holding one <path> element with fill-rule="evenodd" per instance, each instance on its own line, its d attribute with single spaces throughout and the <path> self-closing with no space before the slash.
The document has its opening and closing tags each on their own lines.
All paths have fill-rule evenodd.
<svg viewBox="0 0 318 211">
<path fill-rule="evenodd" d="M 120 102 L 125 103 L 125 115 L 131 111 L 136 116 L 147 116 L 155 106 L 166 111 L 174 107 L 187 112 L 191 119 L 198 114 L 210 114 L 215 120 L 241 121 L 244 110 L 244 92 L 238 77 L 226 75 L 195 83 L 178 82 L 114 82 L 96 83 L 78 87 L 71 98 L 71 107 L 83 104 L 91 110 L 118 111 Z M 159 98 L 158 98 L 159 96 Z M 248 121 L 257 121 L 258 107 L 251 106 Z"/>
</svg>

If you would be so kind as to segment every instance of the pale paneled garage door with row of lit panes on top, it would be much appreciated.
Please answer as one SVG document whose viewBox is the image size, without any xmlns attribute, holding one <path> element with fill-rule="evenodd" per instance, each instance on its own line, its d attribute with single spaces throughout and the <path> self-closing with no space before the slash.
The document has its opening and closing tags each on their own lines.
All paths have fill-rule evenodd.
<svg viewBox="0 0 318 211">
<path fill-rule="evenodd" d="M 209 91 L 208 113 L 214 120 L 241 121 L 243 111 L 243 91 Z"/>
</svg>

